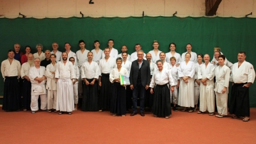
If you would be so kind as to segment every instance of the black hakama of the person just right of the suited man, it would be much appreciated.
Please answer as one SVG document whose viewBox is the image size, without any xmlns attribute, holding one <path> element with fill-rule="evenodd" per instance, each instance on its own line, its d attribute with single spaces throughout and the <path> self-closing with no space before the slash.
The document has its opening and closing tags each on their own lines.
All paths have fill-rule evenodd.
<svg viewBox="0 0 256 144">
<path fill-rule="evenodd" d="M 156 85 L 153 97 L 152 113 L 154 115 L 163 117 L 172 115 L 168 84 Z"/>
</svg>

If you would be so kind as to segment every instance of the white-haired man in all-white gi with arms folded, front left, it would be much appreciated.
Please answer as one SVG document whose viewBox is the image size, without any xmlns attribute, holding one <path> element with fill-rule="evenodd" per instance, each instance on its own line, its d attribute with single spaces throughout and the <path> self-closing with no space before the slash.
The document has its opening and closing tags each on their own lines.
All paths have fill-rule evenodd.
<svg viewBox="0 0 256 144">
<path fill-rule="evenodd" d="M 34 67 L 29 69 L 29 79 L 31 81 L 31 111 L 36 113 L 38 111 L 38 97 L 40 95 L 41 109 L 47 109 L 47 95 L 46 95 L 46 77 L 45 67 L 40 66 L 40 58 L 35 58 Z"/>
</svg>

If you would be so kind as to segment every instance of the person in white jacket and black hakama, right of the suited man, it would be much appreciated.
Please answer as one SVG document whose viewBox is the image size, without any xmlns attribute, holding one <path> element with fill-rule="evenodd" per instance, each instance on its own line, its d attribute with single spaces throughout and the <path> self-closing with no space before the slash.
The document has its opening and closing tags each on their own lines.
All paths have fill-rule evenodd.
<svg viewBox="0 0 256 144">
<path fill-rule="evenodd" d="M 172 72 L 171 70 L 163 68 L 163 61 L 157 60 L 156 63 L 158 70 L 154 72 L 149 86 L 150 93 L 154 93 L 152 113 L 155 117 L 164 116 L 165 118 L 170 118 L 170 115 L 172 115 L 172 111 L 170 89 L 168 86 L 169 84 L 172 86 L 172 92 L 174 92 L 175 86 L 172 77 Z"/>
</svg>

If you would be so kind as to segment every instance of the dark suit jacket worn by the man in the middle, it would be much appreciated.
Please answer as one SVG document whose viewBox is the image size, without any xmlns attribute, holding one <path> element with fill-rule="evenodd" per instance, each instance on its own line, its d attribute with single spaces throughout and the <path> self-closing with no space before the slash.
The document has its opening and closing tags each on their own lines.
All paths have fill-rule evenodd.
<svg viewBox="0 0 256 144">
<path fill-rule="evenodd" d="M 130 72 L 130 83 L 136 86 L 139 72 L 138 60 L 132 61 L 131 72 Z M 141 84 L 146 86 L 150 84 L 150 64 L 147 60 L 143 60 L 141 65 Z"/>
</svg>

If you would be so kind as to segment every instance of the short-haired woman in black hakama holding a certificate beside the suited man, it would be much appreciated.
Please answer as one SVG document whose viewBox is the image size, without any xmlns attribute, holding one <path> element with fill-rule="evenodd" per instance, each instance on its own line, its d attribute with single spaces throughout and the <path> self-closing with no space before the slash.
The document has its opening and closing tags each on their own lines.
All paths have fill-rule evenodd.
<svg viewBox="0 0 256 144">
<path fill-rule="evenodd" d="M 126 114 L 126 90 L 125 84 L 120 84 L 120 76 L 129 76 L 126 68 L 122 67 L 122 58 L 116 58 L 117 67 L 113 68 L 109 74 L 109 81 L 113 84 L 110 113 L 113 116 Z"/>
</svg>

